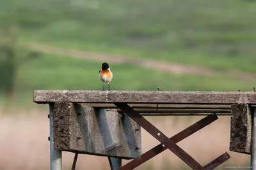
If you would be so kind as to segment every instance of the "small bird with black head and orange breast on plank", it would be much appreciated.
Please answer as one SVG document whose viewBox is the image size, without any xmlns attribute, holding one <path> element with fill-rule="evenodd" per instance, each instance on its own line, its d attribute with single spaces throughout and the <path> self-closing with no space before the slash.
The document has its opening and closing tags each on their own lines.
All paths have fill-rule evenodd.
<svg viewBox="0 0 256 170">
<path fill-rule="evenodd" d="M 100 77 L 100 80 L 103 83 L 102 90 L 104 90 L 104 84 L 105 83 L 108 83 L 108 90 L 110 90 L 109 82 L 113 78 L 113 73 L 112 73 L 108 63 L 106 63 L 106 62 L 102 63 L 102 67 L 99 71 L 99 77 Z"/>
</svg>

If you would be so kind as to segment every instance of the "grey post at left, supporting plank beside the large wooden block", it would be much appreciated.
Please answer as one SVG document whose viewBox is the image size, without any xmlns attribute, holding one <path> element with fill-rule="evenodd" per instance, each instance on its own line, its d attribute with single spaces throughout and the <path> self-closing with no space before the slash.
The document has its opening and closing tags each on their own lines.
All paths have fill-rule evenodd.
<svg viewBox="0 0 256 170">
<path fill-rule="evenodd" d="M 54 150 L 54 143 L 53 143 L 53 114 L 54 114 L 54 104 L 49 104 L 50 108 L 50 164 L 51 170 L 61 170 L 62 163 L 61 163 L 61 150 Z"/>
</svg>

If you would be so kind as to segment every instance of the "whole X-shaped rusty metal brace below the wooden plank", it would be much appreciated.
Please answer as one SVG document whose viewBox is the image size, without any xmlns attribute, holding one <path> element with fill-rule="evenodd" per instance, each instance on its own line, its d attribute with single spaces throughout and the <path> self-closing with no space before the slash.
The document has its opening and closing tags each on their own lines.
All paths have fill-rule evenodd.
<svg viewBox="0 0 256 170">
<path fill-rule="evenodd" d="M 163 134 L 163 132 L 159 131 L 154 125 L 152 125 L 148 120 L 143 118 L 137 111 L 133 110 L 128 104 L 126 103 L 115 103 L 115 105 L 120 108 L 120 110 L 124 111 L 126 115 L 132 118 L 134 122 L 139 124 L 145 131 L 150 133 L 154 138 L 156 138 L 158 141 L 161 142 L 160 145 L 157 145 L 156 147 L 152 148 L 146 153 L 143 153 L 140 155 L 140 157 L 137 157 L 136 159 L 132 160 L 131 162 L 125 164 L 124 166 L 120 167 L 119 170 L 131 170 L 134 169 L 144 162 L 146 162 L 149 159 L 152 159 L 152 157 L 156 156 L 157 154 L 163 152 L 167 148 L 172 151 L 177 157 L 179 157 L 181 160 L 183 160 L 186 164 L 188 164 L 191 169 L 194 170 L 202 170 L 202 169 L 214 169 L 216 166 L 222 164 L 226 160 L 230 159 L 230 156 L 228 153 L 223 153 L 220 157 L 214 159 L 212 162 L 207 164 L 206 166 L 201 166 L 198 162 L 196 162 L 193 157 L 191 157 L 188 153 L 186 153 L 182 148 L 180 148 L 176 143 L 179 141 L 182 141 L 182 139 L 187 138 L 194 132 L 202 129 L 206 125 L 210 124 L 211 122 L 214 122 L 214 120 L 217 120 L 218 117 L 215 114 L 209 115 L 202 120 L 196 122 L 196 124 L 191 125 L 187 129 L 184 129 L 184 131 L 179 132 L 179 134 L 176 134 L 172 138 L 168 138 Z"/>
</svg>

